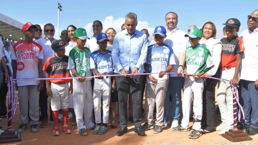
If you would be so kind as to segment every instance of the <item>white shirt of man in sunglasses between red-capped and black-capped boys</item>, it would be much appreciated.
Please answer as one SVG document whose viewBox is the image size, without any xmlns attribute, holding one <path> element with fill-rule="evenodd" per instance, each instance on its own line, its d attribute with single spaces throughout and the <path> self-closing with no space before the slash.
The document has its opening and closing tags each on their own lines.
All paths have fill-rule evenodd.
<svg viewBox="0 0 258 145">
<path fill-rule="evenodd" d="M 56 41 L 56 39 L 54 38 L 54 40 L 52 42 Z M 43 49 L 43 60 L 42 60 L 42 66 L 44 66 L 46 60 L 52 56 L 55 55 L 54 50 L 51 47 L 51 41 L 48 39 L 48 37 L 43 37 L 40 38 L 36 41 L 37 43 L 39 43 L 39 45 L 42 46 Z M 46 77 L 46 72 L 43 71 L 43 77 Z"/>
</svg>

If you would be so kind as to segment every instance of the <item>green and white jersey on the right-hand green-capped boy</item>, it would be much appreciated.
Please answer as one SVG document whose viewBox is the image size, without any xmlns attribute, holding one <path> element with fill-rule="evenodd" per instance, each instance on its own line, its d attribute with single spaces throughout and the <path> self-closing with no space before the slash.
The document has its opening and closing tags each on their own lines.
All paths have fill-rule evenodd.
<svg viewBox="0 0 258 145">
<path fill-rule="evenodd" d="M 186 48 L 185 62 L 188 74 L 198 74 L 205 68 L 213 66 L 210 51 L 200 44 L 196 48 L 193 48 L 193 46 Z"/>
</svg>

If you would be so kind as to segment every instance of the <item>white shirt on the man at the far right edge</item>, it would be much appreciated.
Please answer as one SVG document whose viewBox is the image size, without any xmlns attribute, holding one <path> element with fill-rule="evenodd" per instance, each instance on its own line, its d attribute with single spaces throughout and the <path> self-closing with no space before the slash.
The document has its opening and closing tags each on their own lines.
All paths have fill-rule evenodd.
<svg viewBox="0 0 258 145">
<path fill-rule="evenodd" d="M 256 81 L 258 79 L 258 28 L 253 32 L 247 28 L 241 33 L 240 38 L 244 41 L 240 79 Z"/>
</svg>

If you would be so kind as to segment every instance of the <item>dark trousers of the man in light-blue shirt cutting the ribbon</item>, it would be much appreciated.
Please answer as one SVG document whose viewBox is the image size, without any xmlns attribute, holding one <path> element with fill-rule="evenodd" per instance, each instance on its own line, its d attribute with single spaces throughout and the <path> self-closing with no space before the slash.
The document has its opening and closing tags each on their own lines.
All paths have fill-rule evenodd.
<svg viewBox="0 0 258 145">
<path fill-rule="evenodd" d="M 116 74 L 116 73 L 115 73 Z M 132 95 L 133 103 L 133 119 L 135 127 L 140 127 L 142 122 L 142 103 L 141 103 L 141 90 L 142 90 L 142 76 L 134 77 L 135 81 L 138 81 L 137 84 L 133 78 L 116 76 L 116 86 L 118 92 L 118 104 L 119 104 L 119 120 L 121 127 L 126 127 L 128 123 L 127 117 L 127 100 L 128 100 L 128 90 Z"/>
</svg>

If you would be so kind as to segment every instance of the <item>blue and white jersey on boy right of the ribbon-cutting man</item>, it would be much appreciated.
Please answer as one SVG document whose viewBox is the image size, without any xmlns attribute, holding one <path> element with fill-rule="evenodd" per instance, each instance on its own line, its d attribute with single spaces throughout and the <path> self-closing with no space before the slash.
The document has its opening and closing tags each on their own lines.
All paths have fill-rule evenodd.
<svg viewBox="0 0 258 145">
<path fill-rule="evenodd" d="M 150 45 L 147 50 L 146 63 L 150 73 L 159 73 L 160 71 L 166 70 L 168 65 L 174 65 L 175 56 L 170 46 L 164 44 L 163 46 L 156 46 L 155 44 Z M 159 78 L 159 74 L 152 74 L 158 82 L 161 83 L 168 79 L 169 75 L 165 74 L 162 78 Z M 147 83 L 152 83 L 147 77 Z"/>
</svg>

